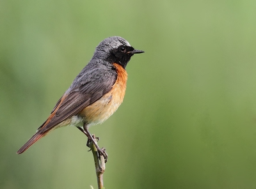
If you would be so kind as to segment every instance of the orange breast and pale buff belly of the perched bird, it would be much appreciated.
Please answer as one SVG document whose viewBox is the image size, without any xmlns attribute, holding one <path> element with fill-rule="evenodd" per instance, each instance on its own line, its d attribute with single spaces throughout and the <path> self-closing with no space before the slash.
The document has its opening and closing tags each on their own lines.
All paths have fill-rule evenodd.
<svg viewBox="0 0 256 189">
<path fill-rule="evenodd" d="M 114 66 L 117 72 L 117 79 L 111 91 L 81 112 L 88 123 L 88 127 L 106 121 L 124 100 L 127 72 L 119 64 L 114 63 Z"/>
</svg>

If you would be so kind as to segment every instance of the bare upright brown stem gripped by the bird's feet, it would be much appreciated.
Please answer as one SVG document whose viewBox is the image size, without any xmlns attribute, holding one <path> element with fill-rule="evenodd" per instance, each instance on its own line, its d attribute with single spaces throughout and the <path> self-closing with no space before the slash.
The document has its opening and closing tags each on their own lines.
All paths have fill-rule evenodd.
<svg viewBox="0 0 256 189">
<path fill-rule="evenodd" d="M 95 135 L 92 135 L 92 137 L 95 141 L 97 141 L 97 139 L 95 138 Z M 99 153 L 97 151 L 97 148 L 93 144 L 93 142 L 90 143 L 90 148 L 92 150 L 92 155 L 93 155 L 93 159 L 94 159 L 98 188 L 104 189 L 104 186 L 103 186 L 103 173 L 105 171 L 104 156 L 100 155 L 100 157 L 99 157 Z"/>
</svg>

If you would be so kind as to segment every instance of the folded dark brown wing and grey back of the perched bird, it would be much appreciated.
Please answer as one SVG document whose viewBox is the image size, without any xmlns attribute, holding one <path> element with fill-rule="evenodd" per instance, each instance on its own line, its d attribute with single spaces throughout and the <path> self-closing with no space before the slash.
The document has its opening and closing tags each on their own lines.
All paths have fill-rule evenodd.
<svg viewBox="0 0 256 189">
<path fill-rule="evenodd" d="M 116 71 L 107 66 L 88 67 L 77 75 L 70 88 L 58 100 L 47 121 L 38 128 L 40 133 L 51 130 L 61 121 L 81 112 L 111 90 L 117 78 Z"/>
</svg>

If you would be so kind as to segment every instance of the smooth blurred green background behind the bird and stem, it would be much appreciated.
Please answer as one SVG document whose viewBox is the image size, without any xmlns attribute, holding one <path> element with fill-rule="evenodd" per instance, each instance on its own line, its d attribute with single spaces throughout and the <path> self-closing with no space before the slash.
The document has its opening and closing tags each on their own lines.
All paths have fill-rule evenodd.
<svg viewBox="0 0 256 189">
<path fill-rule="evenodd" d="M 256 1 L 0 1 L 0 188 L 97 188 L 86 137 L 35 133 L 108 36 L 124 103 L 90 132 L 106 188 L 256 188 Z"/>
</svg>

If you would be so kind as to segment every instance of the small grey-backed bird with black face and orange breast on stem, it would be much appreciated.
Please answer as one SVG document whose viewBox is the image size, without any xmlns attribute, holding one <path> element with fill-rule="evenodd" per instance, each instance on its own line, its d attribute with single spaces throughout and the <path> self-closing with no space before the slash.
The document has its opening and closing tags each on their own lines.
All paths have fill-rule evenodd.
<svg viewBox="0 0 256 189">
<path fill-rule="evenodd" d="M 95 144 L 106 161 L 108 155 L 105 149 L 100 149 L 88 128 L 103 123 L 118 109 L 126 90 L 125 67 L 134 54 L 143 52 L 135 50 L 120 36 L 111 36 L 100 42 L 92 59 L 58 100 L 50 116 L 36 130 L 35 135 L 20 147 L 17 154 L 24 153 L 51 130 L 76 126 L 88 137 L 88 141 Z"/>
</svg>

